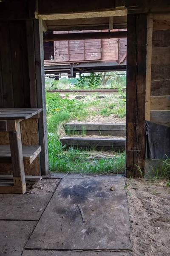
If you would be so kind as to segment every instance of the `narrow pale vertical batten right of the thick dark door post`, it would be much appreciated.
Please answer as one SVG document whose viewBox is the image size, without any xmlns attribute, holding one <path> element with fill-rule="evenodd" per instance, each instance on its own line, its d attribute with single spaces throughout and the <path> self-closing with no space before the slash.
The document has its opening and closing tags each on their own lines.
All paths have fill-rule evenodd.
<svg viewBox="0 0 170 256">
<path fill-rule="evenodd" d="M 152 13 L 150 13 L 147 15 L 146 99 L 145 99 L 145 119 L 147 121 L 150 121 L 152 35 L 153 35 L 153 15 Z"/>
</svg>

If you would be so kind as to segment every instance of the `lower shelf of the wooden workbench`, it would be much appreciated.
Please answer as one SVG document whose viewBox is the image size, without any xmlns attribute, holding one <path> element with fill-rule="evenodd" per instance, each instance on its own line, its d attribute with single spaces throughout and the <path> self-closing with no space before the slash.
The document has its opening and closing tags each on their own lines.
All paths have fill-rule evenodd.
<svg viewBox="0 0 170 256">
<path fill-rule="evenodd" d="M 23 145 L 23 160 L 27 163 L 32 163 L 40 154 L 41 146 L 24 146 Z M 0 145 L 0 163 L 11 163 L 10 145 Z"/>
</svg>

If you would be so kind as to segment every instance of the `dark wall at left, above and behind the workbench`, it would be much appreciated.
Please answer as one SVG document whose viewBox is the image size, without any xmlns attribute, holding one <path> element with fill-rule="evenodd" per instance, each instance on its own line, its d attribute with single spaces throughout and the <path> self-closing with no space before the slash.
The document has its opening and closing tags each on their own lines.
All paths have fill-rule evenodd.
<svg viewBox="0 0 170 256">
<path fill-rule="evenodd" d="M 26 21 L 0 22 L 0 108 L 37 107 L 32 24 Z M 23 120 L 20 126 L 23 145 L 38 145 L 38 120 Z M 0 145 L 8 144 L 8 133 L 0 132 Z M 26 175 L 40 175 L 39 157 L 25 166 L 25 170 Z M 1 174 L 11 172 L 11 164 L 0 164 Z"/>
</svg>

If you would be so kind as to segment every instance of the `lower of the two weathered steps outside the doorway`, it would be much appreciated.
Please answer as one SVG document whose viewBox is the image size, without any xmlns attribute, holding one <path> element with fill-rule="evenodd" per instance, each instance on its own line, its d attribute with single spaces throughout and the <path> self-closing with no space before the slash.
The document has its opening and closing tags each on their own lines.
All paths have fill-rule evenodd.
<svg viewBox="0 0 170 256">
<path fill-rule="evenodd" d="M 96 151 L 125 151 L 125 139 L 122 138 L 62 137 L 60 141 L 62 145 L 66 145 L 67 148 L 73 146 L 74 148 L 82 148 L 85 150 L 94 148 Z"/>
</svg>

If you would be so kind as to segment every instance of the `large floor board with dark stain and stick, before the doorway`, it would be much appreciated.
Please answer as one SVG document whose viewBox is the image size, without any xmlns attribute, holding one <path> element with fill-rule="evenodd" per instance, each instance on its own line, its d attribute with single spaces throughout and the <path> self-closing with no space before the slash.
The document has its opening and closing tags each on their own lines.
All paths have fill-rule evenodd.
<svg viewBox="0 0 170 256">
<path fill-rule="evenodd" d="M 62 179 L 26 244 L 26 249 L 131 248 L 125 179 Z M 114 186 L 114 191 L 111 187 Z M 85 215 L 82 221 L 78 204 Z"/>
</svg>

